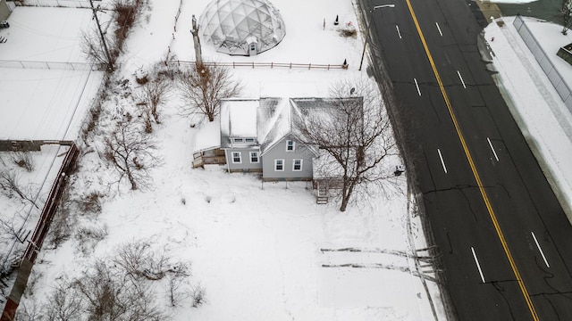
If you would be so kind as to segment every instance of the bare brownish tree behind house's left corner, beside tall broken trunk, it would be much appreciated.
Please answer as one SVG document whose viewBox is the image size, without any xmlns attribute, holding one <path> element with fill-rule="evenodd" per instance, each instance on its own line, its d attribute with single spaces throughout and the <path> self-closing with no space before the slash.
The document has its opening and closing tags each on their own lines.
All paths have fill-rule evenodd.
<svg viewBox="0 0 572 321">
<path fill-rule="evenodd" d="M 178 86 L 187 105 L 181 114 L 198 114 L 213 121 L 220 110 L 220 100 L 240 95 L 240 83 L 232 79 L 231 71 L 225 67 L 206 66 L 198 70 L 191 67 L 180 74 Z"/>
</svg>

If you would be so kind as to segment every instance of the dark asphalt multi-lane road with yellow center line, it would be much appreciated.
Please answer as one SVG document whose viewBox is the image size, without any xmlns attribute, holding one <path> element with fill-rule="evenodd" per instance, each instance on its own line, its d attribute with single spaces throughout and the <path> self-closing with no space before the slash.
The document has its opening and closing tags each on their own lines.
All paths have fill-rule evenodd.
<svg viewBox="0 0 572 321">
<path fill-rule="evenodd" d="M 373 68 L 391 79 L 450 316 L 572 320 L 572 227 L 481 58 L 475 4 L 361 4 L 395 4 L 372 13 Z"/>
</svg>

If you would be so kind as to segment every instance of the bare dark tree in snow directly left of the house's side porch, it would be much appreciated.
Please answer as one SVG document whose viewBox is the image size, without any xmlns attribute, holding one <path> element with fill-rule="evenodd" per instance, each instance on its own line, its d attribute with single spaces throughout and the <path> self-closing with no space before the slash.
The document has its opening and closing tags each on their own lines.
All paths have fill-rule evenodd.
<svg viewBox="0 0 572 321">
<path fill-rule="evenodd" d="M 139 123 L 132 120 L 118 121 L 114 131 L 105 136 L 104 142 L 105 160 L 117 169 L 120 183 L 127 177 L 132 190 L 149 183 L 149 170 L 156 168 L 160 161 L 153 154 L 155 141 L 142 133 Z"/>
</svg>

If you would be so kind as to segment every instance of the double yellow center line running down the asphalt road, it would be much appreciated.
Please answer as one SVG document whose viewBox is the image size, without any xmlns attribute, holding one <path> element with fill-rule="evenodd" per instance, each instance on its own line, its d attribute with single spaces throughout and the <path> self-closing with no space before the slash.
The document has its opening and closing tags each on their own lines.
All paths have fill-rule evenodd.
<svg viewBox="0 0 572 321">
<path fill-rule="evenodd" d="M 411 18 L 413 18 L 413 22 L 415 23 L 417 33 L 419 34 L 421 42 L 423 43 L 423 47 L 425 48 L 425 53 L 427 54 L 429 63 L 431 63 L 431 68 L 433 69 L 433 73 L 435 74 L 435 78 L 437 79 L 437 83 L 439 84 L 439 88 L 441 89 L 443 100 L 447 104 L 447 109 L 449 110 L 450 118 L 452 119 L 453 125 L 455 126 L 455 130 L 457 131 L 458 140 L 461 142 L 461 145 L 463 146 L 463 151 L 465 151 L 465 155 L 467 156 L 468 164 L 470 165 L 471 171 L 473 172 L 473 176 L 475 177 L 476 180 L 476 185 L 479 187 L 479 191 L 481 192 L 481 196 L 483 197 L 484 205 L 486 206 L 486 209 L 489 212 L 489 216 L 491 217 L 492 225 L 494 226 L 497 235 L 499 235 L 499 239 L 501 240 L 502 244 L 502 249 L 504 250 L 507 256 L 507 259 L 509 259 L 510 268 L 512 268 L 512 272 L 517 278 L 518 286 L 520 287 L 520 291 L 522 292 L 522 295 L 526 300 L 526 305 L 530 310 L 530 314 L 532 315 L 535 321 L 538 321 L 539 318 L 538 315 L 536 314 L 536 310 L 534 309 L 533 301 L 530 299 L 530 295 L 526 290 L 526 285 L 523 282 L 520 273 L 518 272 L 517 264 L 515 263 L 515 260 L 512 258 L 512 254 L 510 254 L 509 245 L 507 244 L 507 241 L 502 233 L 501 226 L 499 226 L 499 221 L 494 215 L 494 210 L 492 210 L 491 202 L 489 201 L 489 197 L 487 196 L 486 191 L 484 190 L 483 183 L 481 182 L 481 177 L 479 177 L 479 173 L 476 170 L 475 161 L 473 161 L 471 152 L 469 152 L 468 150 L 467 143 L 465 142 L 465 137 L 461 133 L 461 129 L 458 126 L 457 118 L 455 117 L 455 113 L 453 112 L 453 109 L 451 107 L 449 96 L 445 92 L 445 87 L 443 86 L 441 77 L 439 76 L 439 72 L 437 71 L 437 67 L 435 67 L 435 62 L 433 62 L 433 56 L 431 55 L 431 52 L 429 52 L 429 47 L 427 46 L 425 37 L 423 36 L 423 31 L 421 31 L 421 27 L 419 27 L 419 22 L 417 21 L 417 17 L 415 15 L 415 12 L 413 11 L 413 6 L 409 2 L 409 0 L 406 0 L 406 2 L 408 4 L 409 12 L 411 13 Z"/>
</svg>

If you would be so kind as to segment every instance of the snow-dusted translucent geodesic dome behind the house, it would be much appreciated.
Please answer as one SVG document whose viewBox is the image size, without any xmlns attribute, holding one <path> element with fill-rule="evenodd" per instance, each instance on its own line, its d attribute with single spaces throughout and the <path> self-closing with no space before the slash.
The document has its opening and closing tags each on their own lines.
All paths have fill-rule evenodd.
<svg viewBox="0 0 572 321">
<path fill-rule="evenodd" d="M 280 12 L 268 0 L 213 0 L 199 26 L 217 52 L 234 55 L 262 53 L 286 35 Z"/>
</svg>

